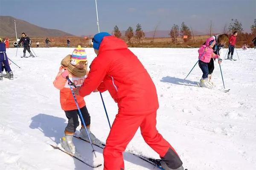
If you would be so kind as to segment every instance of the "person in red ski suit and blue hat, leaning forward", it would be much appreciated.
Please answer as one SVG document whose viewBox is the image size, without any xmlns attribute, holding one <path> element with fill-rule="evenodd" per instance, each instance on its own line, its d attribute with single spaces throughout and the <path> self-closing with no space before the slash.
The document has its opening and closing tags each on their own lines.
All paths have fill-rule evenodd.
<svg viewBox="0 0 256 170">
<path fill-rule="evenodd" d="M 145 142 L 160 155 L 165 170 L 183 170 L 175 149 L 156 129 L 157 91 L 140 60 L 123 40 L 106 32 L 93 37 L 93 48 L 97 57 L 76 94 L 108 90 L 117 102 L 118 114 L 103 151 L 104 170 L 124 170 L 122 153 L 139 127 Z"/>
</svg>

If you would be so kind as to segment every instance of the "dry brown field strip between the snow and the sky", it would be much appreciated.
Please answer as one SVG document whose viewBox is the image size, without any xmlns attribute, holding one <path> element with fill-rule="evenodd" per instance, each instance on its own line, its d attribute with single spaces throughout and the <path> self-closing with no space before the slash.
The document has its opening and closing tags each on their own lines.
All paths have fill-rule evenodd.
<svg viewBox="0 0 256 170">
<path fill-rule="evenodd" d="M 181 37 L 177 37 L 177 43 L 172 42 L 171 38 L 161 38 L 155 37 L 153 38 L 144 38 L 140 42 L 135 38 L 131 39 L 129 43 L 126 37 L 121 37 L 125 42 L 128 43 L 129 47 L 141 47 L 141 48 L 198 48 L 200 47 L 205 40 L 210 37 L 210 35 L 198 35 L 195 36 L 195 42 L 193 37 L 188 41 L 184 42 Z M 36 47 L 36 41 L 40 43 L 39 47 L 45 47 L 45 38 L 36 38 L 30 37 L 32 40 L 32 47 Z M 70 47 L 74 48 L 77 45 L 81 45 L 82 47 L 92 47 L 89 39 L 84 39 L 84 37 L 68 37 L 71 41 Z M 249 44 L 251 47 L 253 46 L 251 40 L 253 39 L 253 35 L 244 34 L 238 37 L 238 41 L 236 43 L 236 47 L 240 48 L 244 43 Z M 67 47 L 67 37 L 50 37 L 49 46 L 50 47 Z M 15 42 L 15 38 L 10 39 L 10 48 L 14 47 L 13 42 Z"/>
</svg>

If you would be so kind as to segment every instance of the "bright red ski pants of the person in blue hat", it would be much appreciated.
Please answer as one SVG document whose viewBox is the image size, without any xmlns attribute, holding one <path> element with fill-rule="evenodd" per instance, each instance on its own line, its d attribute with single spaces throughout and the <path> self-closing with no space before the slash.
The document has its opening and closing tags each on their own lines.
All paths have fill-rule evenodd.
<svg viewBox="0 0 256 170">
<path fill-rule="evenodd" d="M 103 150 L 104 170 L 124 169 L 122 153 L 125 151 L 127 144 L 134 137 L 139 127 L 145 142 L 161 157 L 165 156 L 169 148 L 174 150 L 172 146 L 163 139 L 163 136 L 158 133 L 156 124 L 156 111 L 146 115 L 118 113 L 108 135 L 105 149 Z"/>
</svg>

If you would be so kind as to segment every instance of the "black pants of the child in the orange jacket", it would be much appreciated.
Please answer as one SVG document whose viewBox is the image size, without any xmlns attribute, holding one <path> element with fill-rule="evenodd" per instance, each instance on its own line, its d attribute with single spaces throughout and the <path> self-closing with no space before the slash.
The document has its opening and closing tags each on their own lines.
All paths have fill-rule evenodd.
<svg viewBox="0 0 256 170">
<path fill-rule="evenodd" d="M 84 122 L 86 126 L 90 125 L 90 114 L 88 113 L 88 110 L 86 106 L 80 108 L 82 116 L 84 118 Z M 65 111 L 68 123 L 67 127 L 65 128 L 65 133 L 75 133 L 76 132 L 76 127 L 79 126 L 79 111 L 78 109 L 72 110 L 72 111 Z M 81 118 L 80 118 L 81 120 Z M 82 121 L 81 121 L 82 122 Z"/>
</svg>

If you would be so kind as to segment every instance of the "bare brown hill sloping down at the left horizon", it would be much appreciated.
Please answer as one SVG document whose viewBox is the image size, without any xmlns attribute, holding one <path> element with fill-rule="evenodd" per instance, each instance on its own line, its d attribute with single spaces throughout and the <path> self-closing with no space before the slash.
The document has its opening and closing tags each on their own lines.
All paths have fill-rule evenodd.
<svg viewBox="0 0 256 170">
<path fill-rule="evenodd" d="M 23 20 L 19 20 L 10 16 L 0 16 L 0 37 L 16 37 L 15 25 L 16 20 L 17 36 L 20 37 L 25 32 L 29 37 L 65 37 L 74 36 L 57 29 L 48 29 L 36 26 Z"/>
</svg>

